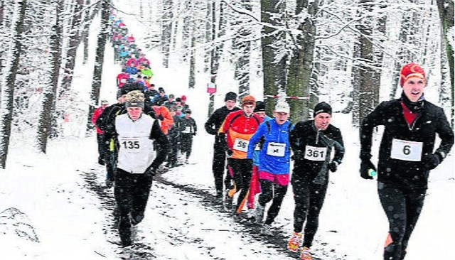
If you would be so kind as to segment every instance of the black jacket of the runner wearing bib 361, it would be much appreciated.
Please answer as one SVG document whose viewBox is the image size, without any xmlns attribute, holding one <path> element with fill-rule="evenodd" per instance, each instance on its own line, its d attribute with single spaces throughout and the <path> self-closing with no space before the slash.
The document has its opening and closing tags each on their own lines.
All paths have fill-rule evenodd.
<svg viewBox="0 0 455 260">
<path fill-rule="evenodd" d="M 341 163 L 344 156 L 344 144 L 341 131 L 336 126 L 329 124 L 326 130 L 317 131 L 314 126 L 314 120 L 299 121 L 289 135 L 289 143 L 294 151 L 294 171 L 293 178 L 304 178 L 308 181 L 314 181 L 323 184 L 328 180 L 328 168 L 330 163 L 332 148 L 335 149 L 335 155 L 332 161 Z M 314 161 L 312 158 L 313 151 L 307 149 L 313 147 L 326 147 L 326 160 Z M 320 155 L 316 155 L 319 157 Z"/>
</svg>

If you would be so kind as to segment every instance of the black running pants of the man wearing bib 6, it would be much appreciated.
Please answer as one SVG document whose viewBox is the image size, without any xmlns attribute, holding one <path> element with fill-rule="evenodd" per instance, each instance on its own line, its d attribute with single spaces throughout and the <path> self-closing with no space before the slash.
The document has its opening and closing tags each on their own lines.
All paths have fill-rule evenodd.
<svg viewBox="0 0 455 260">
<path fill-rule="evenodd" d="M 389 220 L 392 243 L 384 249 L 384 259 L 400 260 L 410 240 L 424 205 L 425 189 L 405 190 L 378 182 L 378 194 L 382 209 Z"/>
</svg>

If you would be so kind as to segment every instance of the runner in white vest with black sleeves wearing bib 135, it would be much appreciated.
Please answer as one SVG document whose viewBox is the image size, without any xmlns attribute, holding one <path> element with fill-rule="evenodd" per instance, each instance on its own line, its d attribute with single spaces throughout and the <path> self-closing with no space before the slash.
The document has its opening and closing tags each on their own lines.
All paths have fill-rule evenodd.
<svg viewBox="0 0 455 260">
<path fill-rule="evenodd" d="M 119 143 L 114 196 L 119 209 L 119 235 L 123 247 L 129 247 L 144 211 L 156 169 L 168 153 L 169 142 L 158 120 L 144 114 L 144 94 L 135 90 L 125 98 L 127 114 L 115 119 L 115 135 Z M 154 153 L 153 141 L 161 149 Z"/>
</svg>

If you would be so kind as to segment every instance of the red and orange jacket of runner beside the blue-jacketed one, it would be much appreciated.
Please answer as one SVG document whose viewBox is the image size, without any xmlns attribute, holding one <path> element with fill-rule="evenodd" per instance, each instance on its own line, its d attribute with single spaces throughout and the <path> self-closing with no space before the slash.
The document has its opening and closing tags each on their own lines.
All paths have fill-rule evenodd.
<svg viewBox="0 0 455 260">
<path fill-rule="evenodd" d="M 248 142 L 262 123 L 262 118 L 257 114 L 250 117 L 243 110 L 231 112 L 220 127 L 220 133 L 226 134 L 226 142 L 232 150 L 230 158 L 247 158 Z"/>
</svg>

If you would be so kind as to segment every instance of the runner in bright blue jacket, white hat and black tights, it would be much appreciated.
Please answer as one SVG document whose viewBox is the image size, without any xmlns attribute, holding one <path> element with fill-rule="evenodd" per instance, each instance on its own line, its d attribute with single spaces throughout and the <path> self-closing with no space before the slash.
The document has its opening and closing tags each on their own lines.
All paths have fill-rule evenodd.
<svg viewBox="0 0 455 260">
<path fill-rule="evenodd" d="M 277 102 L 273 114 L 274 119 L 259 125 L 259 129 L 250 139 L 247 153 L 247 158 L 252 159 L 255 145 L 263 142 L 259 152 L 259 183 L 261 183 L 262 193 L 259 195 L 255 212 L 255 220 L 258 224 L 261 224 L 264 218 L 265 205 L 273 199 L 262 227 L 264 234 L 270 233 L 269 225 L 277 217 L 289 185 L 291 157 L 289 131 L 294 127 L 287 120 L 289 118 L 287 102 Z"/>
</svg>

